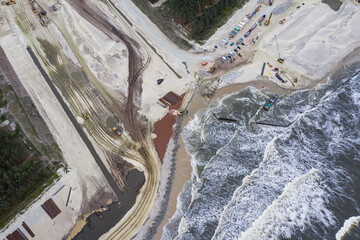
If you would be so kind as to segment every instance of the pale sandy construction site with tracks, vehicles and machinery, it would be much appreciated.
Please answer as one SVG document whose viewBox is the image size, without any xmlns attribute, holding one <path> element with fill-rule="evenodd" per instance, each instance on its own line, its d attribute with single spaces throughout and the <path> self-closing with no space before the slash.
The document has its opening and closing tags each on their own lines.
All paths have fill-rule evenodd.
<svg viewBox="0 0 360 240">
<path fill-rule="evenodd" d="M 127 187 L 128 171 L 136 168 L 146 179 L 136 186 L 136 202 L 101 239 L 144 239 L 162 219 L 164 206 L 157 197 L 165 198 L 159 191 L 169 188 L 160 189 L 160 181 L 180 184 L 172 183 L 170 170 L 161 171 L 162 164 L 174 159 L 164 153 L 160 161 L 155 122 L 173 113 L 178 120 L 186 118 L 182 113 L 194 93 L 207 101 L 224 86 L 261 80 L 285 89 L 306 88 L 360 47 L 358 3 L 344 0 L 338 11 L 320 0 L 291 3 L 249 1 L 203 45 L 192 43 L 193 48 L 185 51 L 130 0 L 3 2 L 0 47 L 68 167 L 59 169 L 59 180 L 1 229 L 1 238 L 19 228 L 30 239 L 25 222 L 35 234 L 32 239 L 71 239 L 86 224 L 86 216 L 118 199 Z M 169 110 L 180 99 L 179 109 Z M 174 152 L 176 144 L 166 152 Z M 41 207 L 50 198 L 59 208 L 51 210 L 56 212 L 54 219 Z M 165 215 L 166 222 L 169 213 Z"/>
</svg>

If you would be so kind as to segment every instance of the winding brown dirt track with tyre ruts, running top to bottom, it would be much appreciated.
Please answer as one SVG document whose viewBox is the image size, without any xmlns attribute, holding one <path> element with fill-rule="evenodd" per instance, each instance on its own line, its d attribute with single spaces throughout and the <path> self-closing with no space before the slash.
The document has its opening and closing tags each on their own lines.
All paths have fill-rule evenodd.
<svg viewBox="0 0 360 240">
<path fill-rule="evenodd" d="M 146 122 L 141 121 L 138 115 L 140 107 L 139 99 L 141 99 L 142 79 L 140 74 L 147 66 L 150 59 L 146 63 L 142 63 L 140 55 L 140 45 L 121 31 L 116 25 L 111 23 L 104 15 L 100 15 L 101 11 L 90 1 L 86 0 L 68 0 L 70 5 L 88 22 L 96 26 L 114 41 L 122 41 L 129 52 L 129 77 L 128 77 L 128 97 L 124 112 L 117 108 L 115 99 L 114 110 L 120 116 L 125 129 L 129 132 L 133 140 L 139 144 L 138 154 L 141 156 L 140 162 L 144 164 L 146 184 L 138 197 L 134 207 L 122 219 L 121 225 L 112 229 L 106 236 L 108 239 L 129 239 L 132 238 L 136 231 L 142 226 L 148 217 L 152 203 L 155 199 L 158 183 L 160 167 L 159 161 L 154 150 L 152 140 L 150 138 L 150 128 Z M 119 104 L 120 105 L 120 104 Z"/>
</svg>

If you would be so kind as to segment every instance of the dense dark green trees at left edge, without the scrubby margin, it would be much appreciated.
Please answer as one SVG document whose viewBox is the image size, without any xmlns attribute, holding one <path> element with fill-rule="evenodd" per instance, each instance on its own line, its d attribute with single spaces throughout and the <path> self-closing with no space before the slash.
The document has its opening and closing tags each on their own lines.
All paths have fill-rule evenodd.
<svg viewBox="0 0 360 240">
<path fill-rule="evenodd" d="M 0 227 L 11 219 L 9 214 L 21 202 L 33 196 L 54 174 L 27 149 L 20 136 L 18 125 L 13 133 L 0 130 Z"/>
</svg>

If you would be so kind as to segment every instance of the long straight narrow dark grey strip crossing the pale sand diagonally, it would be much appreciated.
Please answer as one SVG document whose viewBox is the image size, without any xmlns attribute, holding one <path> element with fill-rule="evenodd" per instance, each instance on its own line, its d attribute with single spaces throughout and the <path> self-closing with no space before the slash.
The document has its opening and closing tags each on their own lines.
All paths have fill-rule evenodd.
<svg viewBox="0 0 360 240">
<path fill-rule="evenodd" d="M 37 59 L 36 55 L 34 54 L 34 52 L 32 51 L 32 49 L 30 47 L 27 48 L 27 51 L 29 52 L 32 60 L 34 61 L 36 67 L 39 69 L 41 75 L 44 77 L 44 79 L 46 80 L 47 84 L 49 85 L 51 91 L 54 93 L 56 99 L 59 101 L 61 107 L 64 109 L 66 115 L 68 116 L 68 118 L 70 119 L 71 123 L 73 124 L 73 126 L 75 127 L 76 131 L 78 132 L 78 134 L 80 135 L 81 139 L 84 141 L 86 147 L 89 149 L 90 153 L 92 154 L 92 156 L 94 157 L 96 163 L 98 164 L 98 166 L 100 167 L 102 173 L 104 174 L 106 180 L 109 182 L 110 187 L 113 189 L 113 191 L 115 192 L 116 196 L 119 198 L 119 200 L 123 200 L 124 198 L 126 199 L 127 196 L 120 191 L 118 185 L 116 184 L 115 180 L 113 179 L 113 177 L 111 176 L 110 172 L 107 170 L 107 168 L 105 167 L 104 163 L 101 161 L 99 155 L 96 153 L 94 146 L 91 144 L 90 140 L 87 138 L 87 136 L 85 135 L 84 131 L 82 130 L 82 128 L 80 127 L 80 125 L 78 124 L 78 122 L 75 119 L 75 116 L 71 113 L 69 107 L 66 105 L 66 103 L 64 102 L 64 100 L 62 99 L 60 93 L 58 92 L 58 90 L 56 89 L 56 87 L 54 86 L 54 84 L 51 82 L 49 76 L 47 75 L 47 73 L 45 72 L 45 70 L 43 69 L 43 67 L 41 66 L 39 60 Z"/>
</svg>

